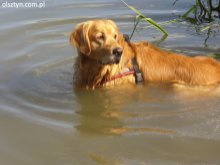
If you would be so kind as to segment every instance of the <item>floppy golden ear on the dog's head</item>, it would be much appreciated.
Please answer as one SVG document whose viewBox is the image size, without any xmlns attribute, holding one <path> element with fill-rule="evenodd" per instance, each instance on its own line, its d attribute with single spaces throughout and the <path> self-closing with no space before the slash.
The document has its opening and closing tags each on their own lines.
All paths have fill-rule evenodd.
<svg viewBox="0 0 220 165">
<path fill-rule="evenodd" d="M 70 43 L 85 55 L 89 55 L 91 53 L 89 39 L 90 27 L 90 21 L 78 24 L 76 29 L 70 34 Z"/>
</svg>

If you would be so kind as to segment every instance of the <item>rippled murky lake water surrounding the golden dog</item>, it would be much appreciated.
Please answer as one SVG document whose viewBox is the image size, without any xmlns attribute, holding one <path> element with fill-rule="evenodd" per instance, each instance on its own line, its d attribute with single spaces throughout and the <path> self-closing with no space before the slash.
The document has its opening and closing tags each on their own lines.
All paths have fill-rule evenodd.
<svg viewBox="0 0 220 165">
<path fill-rule="evenodd" d="M 178 18 L 194 2 L 173 1 L 126 2 L 157 22 Z M 220 96 L 212 91 L 149 84 L 74 92 L 69 33 L 94 18 L 132 32 L 134 13 L 119 0 L 0 8 L 0 164 L 218 165 Z M 189 55 L 220 52 L 219 28 L 168 24 L 170 35 L 160 41 L 162 34 L 147 26 L 141 23 L 132 40 Z"/>
</svg>

